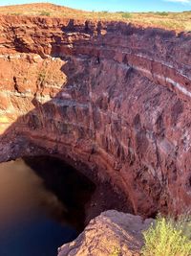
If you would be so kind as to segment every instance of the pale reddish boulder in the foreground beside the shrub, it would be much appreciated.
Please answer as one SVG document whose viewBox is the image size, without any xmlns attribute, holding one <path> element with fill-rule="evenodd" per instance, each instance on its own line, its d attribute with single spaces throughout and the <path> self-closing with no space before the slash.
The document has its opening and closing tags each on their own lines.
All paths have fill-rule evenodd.
<svg viewBox="0 0 191 256">
<path fill-rule="evenodd" d="M 107 211 L 90 221 L 74 242 L 58 249 L 58 256 L 138 256 L 143 242 L 142 232 L 154 220 Z"/>
</svg>

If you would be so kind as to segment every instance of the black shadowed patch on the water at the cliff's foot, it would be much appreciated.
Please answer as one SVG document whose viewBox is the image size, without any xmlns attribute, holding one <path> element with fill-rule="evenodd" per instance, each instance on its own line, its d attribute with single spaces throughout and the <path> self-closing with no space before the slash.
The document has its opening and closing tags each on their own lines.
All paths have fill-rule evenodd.
<svg viewBox="0 0 191 256">
<path fill-rule="evenodd" d="M 71 223 L 81 232 L 85 223 L 85 205 L 95 192 L 96 185 L 72 166 L 53 156 L 26 156 L 25 163 L 44 180 L 45 187 L 64 205 L 57 220 Z"/>
</svg>

